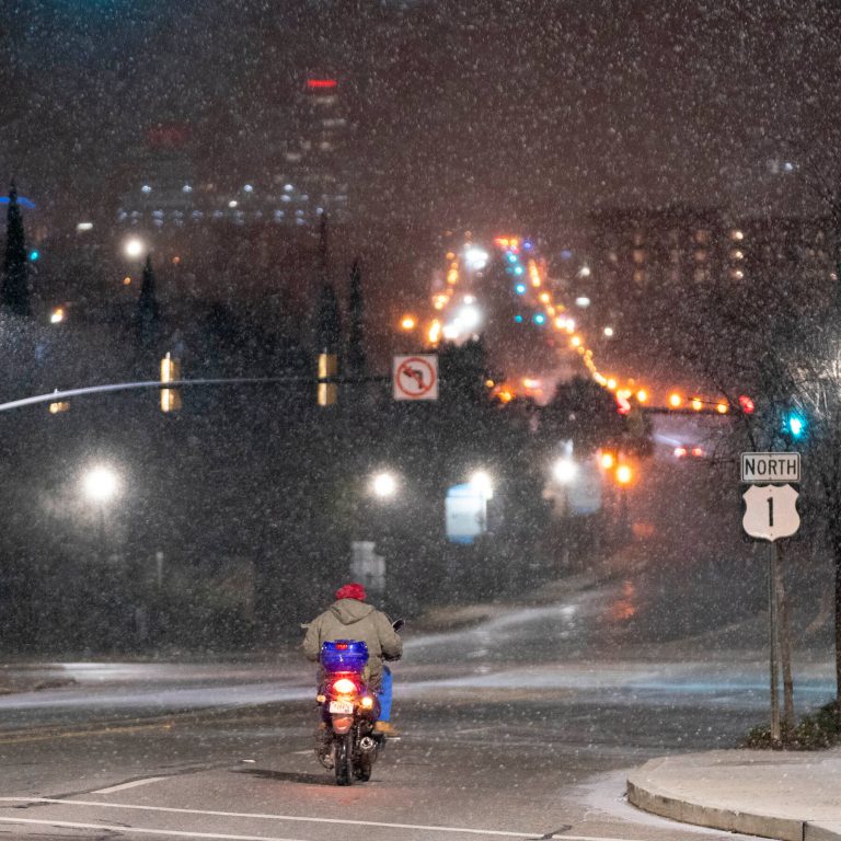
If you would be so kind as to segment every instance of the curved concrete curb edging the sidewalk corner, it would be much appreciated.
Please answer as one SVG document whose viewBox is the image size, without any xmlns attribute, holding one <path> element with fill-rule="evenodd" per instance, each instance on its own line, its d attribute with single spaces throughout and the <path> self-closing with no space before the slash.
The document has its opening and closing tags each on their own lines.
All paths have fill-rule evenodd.
<svg viewBox="0 0 841 841">
<path fill-rule="evenodd" d="M 841 823 L 809 822 L 796 818 L 781 818 L 749 811 L 707 806 L 675 797 L 665 788 L 653 784 L 649 774 L 666 761 L 653 759 L 627 777 L 627 800 L 644 811 L 726 832 L 773 838 L 780 841 L 841 841 Z"/>
</svg>

